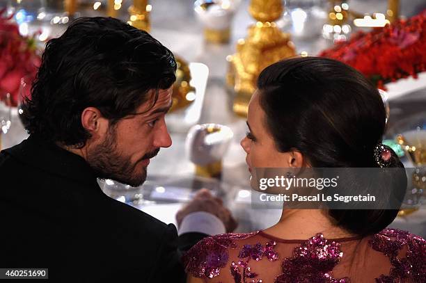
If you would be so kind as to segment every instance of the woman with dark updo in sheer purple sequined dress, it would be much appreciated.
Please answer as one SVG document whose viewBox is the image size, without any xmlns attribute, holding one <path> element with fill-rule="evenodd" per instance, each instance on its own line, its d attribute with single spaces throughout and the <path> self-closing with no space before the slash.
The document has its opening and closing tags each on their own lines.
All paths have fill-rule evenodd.
<svg viewBox="0 0 426 283">
<path fill-rule="evenodd" d="M 306 57 L 267 67 L 248 106 L 241 145 L 255 168 L 383 168 L 382 198 L 407 185 L 381 144 L 386 111 L 365 77 L 336 60 Z M 386 171 L 388 170 L 388 171 Z M 403 170 L 402 170 L 403 171 Z M 248 234 L 200 241 L 184 256 L 188 282 L 425 282 L 426 241 L 385 229 L 388 209 L 287 209 Z M 386 208 L 386 209 L 385 209 Z"/>
</svg>

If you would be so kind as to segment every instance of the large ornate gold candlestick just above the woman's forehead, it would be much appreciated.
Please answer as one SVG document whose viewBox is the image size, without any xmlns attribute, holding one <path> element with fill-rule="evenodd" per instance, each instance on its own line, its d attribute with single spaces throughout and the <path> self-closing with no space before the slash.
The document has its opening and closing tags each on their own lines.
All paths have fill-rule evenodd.
<svg viewBox="0 0 426 283">
<path fill-rule="evenodd" d="M 246 40 L 239 40 L 237 53 L 228 56 L 228 86 L 235 91 L 233 111 L 246 117 L 248 102 L 255 91 L 260 72 L 283 58 L 296 54 L 288 33 L 274 21 L 283 14 L 281 0 L 252 0 L 248 11 L 258 22 L 248 28 Z"/>
</svg>

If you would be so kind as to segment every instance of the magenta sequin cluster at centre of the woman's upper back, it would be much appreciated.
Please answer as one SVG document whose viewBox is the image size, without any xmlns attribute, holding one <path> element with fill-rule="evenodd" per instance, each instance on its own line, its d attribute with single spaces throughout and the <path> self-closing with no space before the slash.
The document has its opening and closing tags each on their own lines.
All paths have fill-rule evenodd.
<svg viewBox="0 0 426 283">
<path fill-rule="evenodd" d="M 316 234 L 294 248 L 293 257 L 283 260 L 283 273 L 276 277 L 275 283 L 347 283 L 346 277 L 336 279 L 331 273 L 342 256 L 340 243 L 330 243 L 322 234 Z"/>
</svg>

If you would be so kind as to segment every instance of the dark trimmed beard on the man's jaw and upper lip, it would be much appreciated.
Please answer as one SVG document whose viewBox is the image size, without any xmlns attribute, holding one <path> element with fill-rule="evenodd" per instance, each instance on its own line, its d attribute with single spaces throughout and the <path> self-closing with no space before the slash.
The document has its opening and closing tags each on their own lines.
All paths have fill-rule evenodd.
<svg viewBox="0 0 426 283">
<path fill-rule="evenodd" d="M 159 149 L 148 152 L 142 159 L 150 159 L 158 152 Z M 130 186 L 141 186 L 146 179 L 146 167 L 142 172 L 136 172 L 136 166 L 142 159 L 132 164 L 131 156 L 123 156 L 118 152 L 117 132 L 114 126 L 109 127 L 105 140 L 99 145 L 95 145 L 87 156 L 87 162 L 95 170 L 97 177 L 113 179 Z"/>
</svg>

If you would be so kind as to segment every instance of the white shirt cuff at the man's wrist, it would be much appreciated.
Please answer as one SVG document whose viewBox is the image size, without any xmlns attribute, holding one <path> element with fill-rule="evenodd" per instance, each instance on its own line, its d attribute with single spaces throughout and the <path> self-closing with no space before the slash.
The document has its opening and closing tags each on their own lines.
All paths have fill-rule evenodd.
<svg viewBox="0 0 426 283">
<path fill-rule="evenodd" d="M 225 225 L 212 213 L 196 211 L 185 216 L 180 224 L 178 234 L 198 232 L 210 236 L 226 233 Z"/>
</svg>

